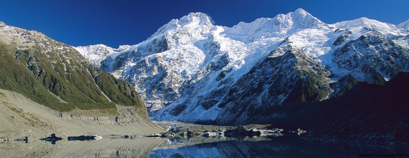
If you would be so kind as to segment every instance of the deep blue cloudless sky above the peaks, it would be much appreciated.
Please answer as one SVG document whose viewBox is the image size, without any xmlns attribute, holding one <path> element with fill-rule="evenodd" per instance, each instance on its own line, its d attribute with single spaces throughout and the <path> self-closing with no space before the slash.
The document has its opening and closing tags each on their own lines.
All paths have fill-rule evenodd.
<svg viewBox="0 0 409 158">
<path fill-rule="evenodd" d="M 327 24 L 361 17 L 390 24 L 409 19 L 407 0 L 371 1 L 131 1 L 0 0 L 0 21 L 36 30 L 71 46 L 138 44 L 172 19 L 191 12 L 209 15 L 215 25 L 232 27 L 257 18 L 303 8 Z"/>
</svg>

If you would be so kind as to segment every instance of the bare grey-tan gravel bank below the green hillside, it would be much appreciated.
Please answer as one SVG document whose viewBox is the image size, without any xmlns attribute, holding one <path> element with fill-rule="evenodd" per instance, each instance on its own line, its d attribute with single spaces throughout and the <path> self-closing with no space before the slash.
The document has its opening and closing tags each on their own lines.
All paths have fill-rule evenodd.
<svg viewBox="0 0 409 158">
<path fill-rule="evenodd" d="M 79 113 L 79 110 L 75 110 Z M 80 110 L 76 115 L 58 112 L 24 97 L 16 92 L 0 89 L 0 139 L 12 140 L 29 136 L 40 139 L 55 133 L 66 138 L 73 135 L 147 135 L 165 131 L 140 116 L 134 107 L 118 106 L 117 115 L 106 115 L 104 111 Z"/>
</svg>

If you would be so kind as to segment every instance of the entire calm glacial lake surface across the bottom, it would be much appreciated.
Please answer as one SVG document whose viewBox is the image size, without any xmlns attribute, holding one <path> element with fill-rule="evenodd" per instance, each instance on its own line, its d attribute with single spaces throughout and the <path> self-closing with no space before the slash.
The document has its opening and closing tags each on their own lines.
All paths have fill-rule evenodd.
<svg viewBox="0 0 409 158">
<path fill-rule="evenodd" d="M 360 157 L 359 154 L 402 154 L 409 148 L 394 144 L 361 144 L 305 140 L 296 134 L 241 137 L 105 136 L 99 140 L 56 142 L 3 141 L 1 157 Z M 375 156 L 377 154 L 378 156 Z M 395 155 L 396 157 L 396 155 Z"/>
</svg>

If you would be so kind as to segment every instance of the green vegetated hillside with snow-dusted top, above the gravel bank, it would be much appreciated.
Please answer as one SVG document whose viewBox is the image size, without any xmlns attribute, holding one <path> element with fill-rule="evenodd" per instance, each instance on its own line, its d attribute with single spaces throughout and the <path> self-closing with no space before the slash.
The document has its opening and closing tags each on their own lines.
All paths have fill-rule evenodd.
<svg viewBox="0 0 409 158">
<path fill-rule="evenodd" d="M 30 35 L 32 45 L 0 41 L 1 89 L 57 111 L 112 109 L 115 104 L 146 109 L 128 82 L 94 68 L 68 45 L 24 32 Z"/>
</svg>

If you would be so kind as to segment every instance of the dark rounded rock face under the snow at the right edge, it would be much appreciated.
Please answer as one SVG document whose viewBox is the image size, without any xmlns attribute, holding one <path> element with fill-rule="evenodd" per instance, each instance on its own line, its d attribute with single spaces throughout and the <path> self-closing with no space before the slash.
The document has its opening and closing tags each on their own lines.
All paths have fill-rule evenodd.
<svg viewBox="0 0 409 158">
<path fill-rule="evenodd" d="M 409 70 L 409 53 L 379 32 L 362 35 L 333 53 L 333 62 L 360 81 L 383 84 Z"/>
</svg>

